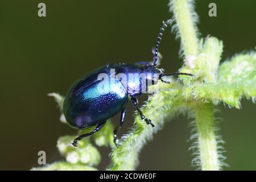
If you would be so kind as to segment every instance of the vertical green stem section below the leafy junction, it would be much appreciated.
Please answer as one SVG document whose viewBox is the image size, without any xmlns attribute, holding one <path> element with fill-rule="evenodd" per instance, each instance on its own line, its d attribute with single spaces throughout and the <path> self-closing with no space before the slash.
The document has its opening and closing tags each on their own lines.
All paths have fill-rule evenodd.
<svg viewBox="0 0 256 182">
<path fill-rule="evenodd" d="M 214 132 L 213 106 L 212 104 L 196 104 L 194 110 L 201 169 L 203 171 L 217 171 L 220 169 L 220 163 Z"/>
</svg>

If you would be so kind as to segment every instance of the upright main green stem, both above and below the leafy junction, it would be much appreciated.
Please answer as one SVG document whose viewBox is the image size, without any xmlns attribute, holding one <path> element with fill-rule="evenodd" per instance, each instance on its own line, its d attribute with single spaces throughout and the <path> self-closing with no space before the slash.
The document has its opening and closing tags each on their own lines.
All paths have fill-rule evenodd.
<svg viewBox="0 0 256 182">
<path fill-rule="evenodd" d="M 176 20 L 176 32 L 181 38 L 181 48 L 185 58 L 199 54 L 199 41 L 197 39 L 197 15 L 193 8 L 192 0 L 170 0 L 170 10 L 174 13 Z M 204 60 L 208 61 L 208 60 Z M 219 170 L 217 142 L 214 133 L 213 108 L 210 104 L 196 102 L 195 110 L 197 140 L 202 170 Z"/>
</svg>

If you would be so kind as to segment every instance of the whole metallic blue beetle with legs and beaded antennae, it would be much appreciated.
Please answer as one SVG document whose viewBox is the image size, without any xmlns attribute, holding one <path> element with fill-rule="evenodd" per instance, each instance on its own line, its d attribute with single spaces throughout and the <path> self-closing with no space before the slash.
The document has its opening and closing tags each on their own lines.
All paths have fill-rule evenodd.
<svg viewBox="0 0 256 182">
<path fill-rule="evenodd" d="M 163 22 L 163 26 L 160 28 L 153 63 L 108 64 L 85 75 L 71 86 L 65 97 L 63 106 L 63 112 L 68 124 L 76 129 L 86 129 L 97 125 L 92 132 L 80 135 L 73 140 L 73 147 L 76 147 L 77 142 L 82 138 L 93 135 L 102 129 L 107 119 L 112 118 L 121 111 L 119 126 L 114 129 L 114 143 L 118 147 L 117 133 L 125 121 L 125 109 L 129 101 L 129 96 L 139 115 L 141 115 L 141 119 L 144 119 L 147 124 L 154 127 L 151 120 L 146 118 L 139 109 L 137 96 L 147 92 L 148 83 L 154 85 L 158 83 L 158 80 L 167 84 L 170 83 L 163 80 L 164 76 L 193 76 L 189 73 L 179 72 L 165 74 L 163 73 L 163 69 L 156 68 L 159 60 L 158 47 L 160 40 L 164 28 L 171 22 L 171 19 Z M 99 79 L 99 75 L 105 75 L 107 77 L 101 77 Z M 130 75 L 135 75 L 135 78 L 130 78 Z"/>
</svg>

